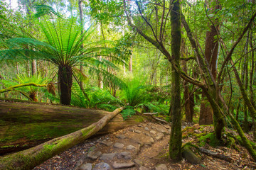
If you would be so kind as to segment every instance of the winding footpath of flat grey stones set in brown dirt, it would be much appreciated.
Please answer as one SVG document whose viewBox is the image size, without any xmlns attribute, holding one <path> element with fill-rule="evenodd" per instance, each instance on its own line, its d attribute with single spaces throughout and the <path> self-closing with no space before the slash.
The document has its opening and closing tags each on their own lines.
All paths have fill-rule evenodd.
<svg viewBox="0 0 256 170">
<path fill-rule="evenodd" d="M 132 128 L 119 130 L 112 137 L 105 138 L 91 147 L 80 159 L 76 170 L 107 169 L 151 169 L 149 159 L 159 156 L 158 152 L 149 149 L 166 148 L 169 141 L 170 126 L 156 123 L 143 123 Z M 158 164 L 156 170 L 167 169 L 165 164 Z"/>
</svg>

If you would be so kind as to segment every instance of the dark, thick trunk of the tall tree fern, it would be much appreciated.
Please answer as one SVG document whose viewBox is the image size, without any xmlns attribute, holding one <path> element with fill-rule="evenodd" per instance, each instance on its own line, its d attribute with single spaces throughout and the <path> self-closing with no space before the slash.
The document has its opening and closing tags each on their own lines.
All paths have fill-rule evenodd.
<svg viewBox="0 0 256 170">
<path fill-rule="evenodd" d="M 70 66 L 58 67 L 58 81 L 60 91 L 60 104 L 70 105 L 72 87 L 72 68 Z"/>
</svg>

